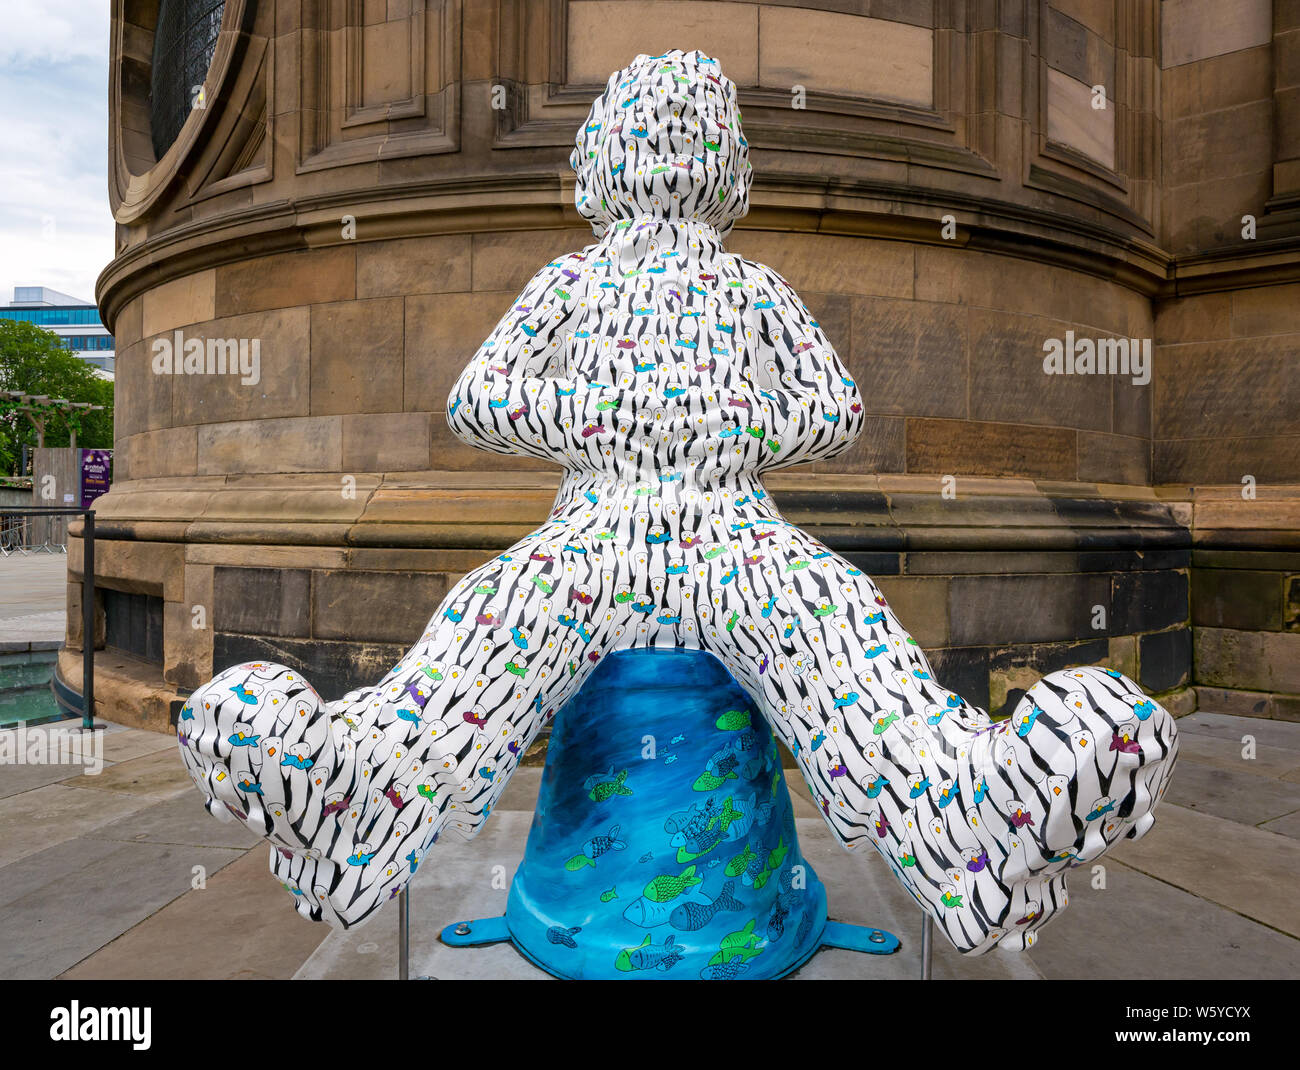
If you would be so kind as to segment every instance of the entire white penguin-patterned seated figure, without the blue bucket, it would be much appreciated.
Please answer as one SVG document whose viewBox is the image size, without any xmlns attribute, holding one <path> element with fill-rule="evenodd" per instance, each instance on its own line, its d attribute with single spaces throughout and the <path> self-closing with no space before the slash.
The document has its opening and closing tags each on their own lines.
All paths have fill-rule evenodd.
<svg viewBox="0 0 1300 1070">
<path fill-rule="evenodd" d="M 1078 668 L 993 722 L 772 504 L 762 473 L 848 449 L 863 406 L 789 283 L 723 247 L 751 169 L 715 60 L 638 56 L 571 163 L 597 241 L 538 270 L 447 403 L 467 442 L 563 465 L 550 517 L 456 584 L 374 686 L 324 702 L 250 663 L 195 692 L 179 745 L 209 810 L 272 841 L 299 913 L 352 926 L 445 831 L 482 827 L 601 658 L 702 649 L 846 848 L 879 850 L 959 950 L 1028 946 L 1069 867 L 1150 827 L 1173 718 Z"/>
</svg>

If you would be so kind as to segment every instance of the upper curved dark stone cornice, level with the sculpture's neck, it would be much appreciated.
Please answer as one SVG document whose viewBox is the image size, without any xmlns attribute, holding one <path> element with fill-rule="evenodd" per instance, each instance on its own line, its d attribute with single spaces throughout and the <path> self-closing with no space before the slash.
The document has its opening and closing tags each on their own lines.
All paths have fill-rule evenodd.
<svg viewBox="0 0 1300 1070">
<path fill-rule="evenodd" d="M 342 244 L 339 220 L 356 217 L 355 241 L 425 234 L 578 228 L 572 182 L 555 173 L 494 174 L 329 192 L 238 208 L 172 228 L 130 247 L 100 274 L 96 295 L 113 329 L 124 304 L 179 276 L 276 252 Z M 953 215 L 956 235 L 940 235 Z M 766 176 L 740 229 L 855 235 L 957 244 L 1112 280 L 1152 299 L 1300 278 L 1300 241 L 1252 243 L 1173 257 L 1139 233 L 1122 234 L 1079 216 L 948 190 L 807 176 Z"/>
</svg>

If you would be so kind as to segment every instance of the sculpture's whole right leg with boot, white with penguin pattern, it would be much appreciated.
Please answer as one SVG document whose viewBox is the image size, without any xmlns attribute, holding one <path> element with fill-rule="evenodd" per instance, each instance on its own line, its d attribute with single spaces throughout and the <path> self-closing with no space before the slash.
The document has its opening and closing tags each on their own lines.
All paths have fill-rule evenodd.
<svg viewBox="0 0 1300 1070">
<path fill-rule="evenodd" d="M 1150 827 L 1173 718 L 1123 675 L 1080 668 L 1048 675 L 994 723 L 933 680 L 867 576 L 801 532 L 784 537 L 748 593 L 714 601 L 706 644 L 794 751 L 845 846 L 880 849 L 959 949 L 1032 943 L 1065 905 L 1067 866 Z"/>
</svg>

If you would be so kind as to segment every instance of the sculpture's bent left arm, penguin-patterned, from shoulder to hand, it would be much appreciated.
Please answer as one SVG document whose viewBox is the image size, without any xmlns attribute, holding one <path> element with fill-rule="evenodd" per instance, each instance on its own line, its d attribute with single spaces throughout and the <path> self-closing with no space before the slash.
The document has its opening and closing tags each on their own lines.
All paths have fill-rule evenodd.
<svg viewBox="0 0 1300 1070">
<path fill-rule="evenodd" d="M 608 449 L 625 391 L 555 374 L 581 299 L 577 267 L 575 257 L 546 264 L 451 387 L 447 424 L 471 446 L 578 464 Z"/>
</svg>

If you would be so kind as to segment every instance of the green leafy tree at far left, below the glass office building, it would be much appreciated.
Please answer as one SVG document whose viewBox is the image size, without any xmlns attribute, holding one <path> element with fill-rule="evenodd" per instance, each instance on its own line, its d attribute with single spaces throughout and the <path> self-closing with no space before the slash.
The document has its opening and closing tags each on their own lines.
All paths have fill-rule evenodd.
<svg viewBox="0 0 1300 1070">
<path fill-rule="evenodd" d="M 46 445 L 70 445 L 70 426 L 77 445 L 108 450 L 113 446 L 113 382 L 58 342 L 58 335 L 35 324 L 0 320 L 0 391 L 22 390 L 69 402 L 104 406 L 103 412 L 73 410 L 66 416 L 46 416 Z M 0 472 L 17 473 L 23 445 L 36 445 L 36 429 L 18 403 L 0 397 Z"/>
</svg>

